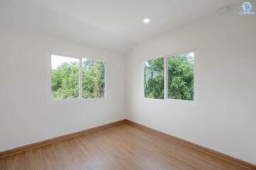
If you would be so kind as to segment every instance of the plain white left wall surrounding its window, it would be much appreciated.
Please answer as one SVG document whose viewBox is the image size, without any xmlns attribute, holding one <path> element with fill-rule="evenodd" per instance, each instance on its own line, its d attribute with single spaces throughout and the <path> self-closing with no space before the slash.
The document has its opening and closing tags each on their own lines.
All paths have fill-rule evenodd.
<svg viewBox="0 0 256 170">
<path fill-rule="evenodd" d="M 47 51 L 106 61 L 106 98 L 48 103 Z M 0 152 L 122 120 L 123 56 L 0 26 Z"/>
</svg>

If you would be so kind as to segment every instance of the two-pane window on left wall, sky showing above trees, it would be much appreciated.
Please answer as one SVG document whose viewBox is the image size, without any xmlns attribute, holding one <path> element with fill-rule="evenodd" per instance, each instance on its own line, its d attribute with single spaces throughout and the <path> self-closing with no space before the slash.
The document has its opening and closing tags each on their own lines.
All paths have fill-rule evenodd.
<svg viewBox="0 0 256 170">
<path fill-rule="evenodd" d="M 52 99 L 104 98 L 105 62 L 51 55 Z"/>
</svg>

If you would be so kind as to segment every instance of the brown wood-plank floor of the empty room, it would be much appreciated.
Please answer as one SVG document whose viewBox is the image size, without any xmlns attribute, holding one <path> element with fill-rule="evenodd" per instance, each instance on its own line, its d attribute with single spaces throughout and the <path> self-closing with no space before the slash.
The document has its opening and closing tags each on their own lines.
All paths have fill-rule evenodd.
<svg viewBox="0 0 256 170">
<path fill-rule="evenodd" d="M 164 137 L 121 124 L 0 159 L 1 170 L 16 169 L 246 169 Z"/>
</svg>

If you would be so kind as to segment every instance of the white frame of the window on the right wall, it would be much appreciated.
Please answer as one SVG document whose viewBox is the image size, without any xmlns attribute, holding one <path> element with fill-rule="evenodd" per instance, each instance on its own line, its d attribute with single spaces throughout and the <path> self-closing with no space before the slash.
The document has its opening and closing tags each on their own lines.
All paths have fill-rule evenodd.
<svg viewBox="0 0 256 170">
<path fill-rule="evenodd" d="M 193 84 L 193 88 L 194 88 L 194 98 L 193 100 L 189 101 L 189 100 L 182 100 L 182 99 L 177 99 L 177 98 L 168 98 L 168 62 L 167 59 L 169 57 L 174 57 L 176 55 L 182 55 L 182 54 L 187 54 L 189 52 L 194 52 L 194 65 L 193 65 L 193 75 L 194 75 L 194 84 Z M 158 59 L 158 58 L 164 58 L 164 98 L 160 99 L 160 98 L 146 98 L 145 97 L 145 79 L 144 79 L 144 74 L 145 74 L 145 62 L 147 62 L 148 60 L 154 60 L 154 59 Z M 196 49 L 193 50 L 187 50 L 187 51 L 183 51 L 183 52 L 176 52 L 176 53 L 172 53 L 171 55 L 163 55 L 162 57 L 153 57 L 153 58 L 149 58 L 148 60 L 143 61 L 143 98 L 145 100 L 156 100 L 156 101 L 174 101 L 174 102 L 188 102 L 188 103 L 197 103 L 198 101 L 198 91 L 197 91 L 197 84 L 198 84 L 198 79 L 197 79 L 197 65 L 198 65 L 198 51 Z"/>
</svg>

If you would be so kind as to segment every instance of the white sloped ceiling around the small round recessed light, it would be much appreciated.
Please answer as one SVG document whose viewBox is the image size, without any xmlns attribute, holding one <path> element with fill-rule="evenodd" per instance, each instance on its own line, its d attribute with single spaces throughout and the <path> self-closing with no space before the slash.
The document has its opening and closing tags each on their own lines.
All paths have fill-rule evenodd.
<svg viewBox="0 0 256 170">
<path fill-rule="evenodd" d="M 128 52 L 136 43 L 240 0 L 0 0 L 0 21 Z M 150 18 L 144 24 L 143 18 Z"/>
</svg>

